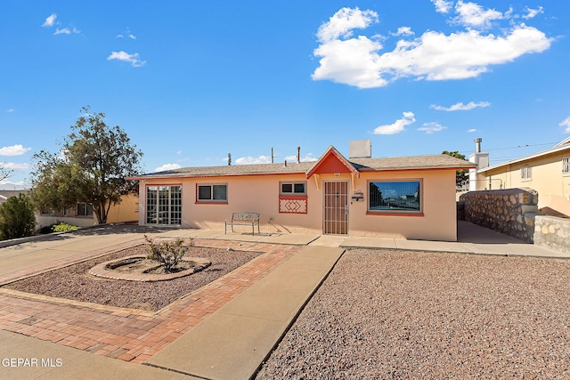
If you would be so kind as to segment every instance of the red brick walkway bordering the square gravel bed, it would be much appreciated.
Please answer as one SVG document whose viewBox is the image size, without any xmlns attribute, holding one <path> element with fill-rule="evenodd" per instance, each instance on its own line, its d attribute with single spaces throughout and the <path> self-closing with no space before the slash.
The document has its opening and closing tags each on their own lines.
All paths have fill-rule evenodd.
<svg viewBox="0 0 570 380">
<path fill-rule="evenodd" d="M 264 252 L 265 255 L 256 257 L 236 271 L 157 312 L 80 303 L 0 288 L 0 329 L 97 355 L 142 363 L 240 295 L 257 280 L 263 279 L 279 263 L 297 254 L 302 248 L 209 239 L 195 239 L 195 244 L 202 247 L 232 247 L 236 250 Z M 124 245 L 111 247 L 106 252 L 120 248 L 124 248 Z M 61 267 L 102 254 L 94 251 L 80 255 L 81 260 L 77 260 L 78 257 L 75 256 L 67 263 L 51 264 Z M 47 269 L 47 266 L 30 268 L 28 272 L 21 271 L 18 275 L 20 278 L 28 277 Z M 0 279 L 0 283 L 4 282 L 3 280 L 6 279 Z"/>
</svg>

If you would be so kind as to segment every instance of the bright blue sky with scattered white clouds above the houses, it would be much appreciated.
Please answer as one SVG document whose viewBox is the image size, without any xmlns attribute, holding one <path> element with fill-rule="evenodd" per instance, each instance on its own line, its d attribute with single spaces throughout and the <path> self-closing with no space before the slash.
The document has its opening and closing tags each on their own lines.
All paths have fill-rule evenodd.
<svg viewBox="0 0 570 380">
<path fill-rule="evenodd" d="M 401 0 L 0 4 L 0 188 L 90 105 L 144 172 L 459 150 L 498 164 L 570 135 L 570 4 Z"/>
</svg>

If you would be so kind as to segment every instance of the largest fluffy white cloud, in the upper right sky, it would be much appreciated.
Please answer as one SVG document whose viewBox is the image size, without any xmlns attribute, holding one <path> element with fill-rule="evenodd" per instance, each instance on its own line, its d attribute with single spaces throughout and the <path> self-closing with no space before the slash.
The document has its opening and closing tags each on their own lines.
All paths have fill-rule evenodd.
<svg viewBox="0 0 570 380">
<path fill-rule="evenodd" d="M 469 20 L 493 19 L 482 17 L 477 21 L 472 15 Z M 359 88 L 381 87 L 402 77 L 466 79 L 478 77 L 492 65 L 550 48 L 550 39 L 541 30 L 519 24 L 501 35 L 473 29 L 450 35 L 428 30 L 417 38 L 399 40 L 391 52 L 380 53 L 384 46 L 379 38 L 353 36 L 354 28 L 367 28 L 377 20 L 376 12 L 343 8 L 323 24 L 317 34 L 320 45 L 314 50 L 321 59 L 313 79 Z"/>
</svg>

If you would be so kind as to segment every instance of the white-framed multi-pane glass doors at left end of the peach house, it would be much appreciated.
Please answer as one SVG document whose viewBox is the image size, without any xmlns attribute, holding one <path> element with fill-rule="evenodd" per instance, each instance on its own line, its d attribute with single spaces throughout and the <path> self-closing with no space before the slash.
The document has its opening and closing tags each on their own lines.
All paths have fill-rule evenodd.
<svg viewBox="0 0 570 380">
<path fill-rule="evenodd" d="M 146 223 L 182 223 L 182 186 L 148 186 L 146 188 Z"/>
</svg>

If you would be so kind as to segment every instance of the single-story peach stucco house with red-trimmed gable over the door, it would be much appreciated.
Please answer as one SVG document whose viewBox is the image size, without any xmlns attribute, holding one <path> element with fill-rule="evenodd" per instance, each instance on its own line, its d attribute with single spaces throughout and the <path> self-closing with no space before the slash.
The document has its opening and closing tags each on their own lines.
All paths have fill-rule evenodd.
<svg viewBox="0 0 570 380">
<path fill-rule="evenodd" d="M 349 159 L 330 147 L 316 162 L 128 178 L 139 181 L 139 224 L 224 230 L 232 213 L 248 211 L 261 214 L 265 233 L 456 241 L 455 171 L 475 165 L 447 155 L 370 158 L 370 140 L 362 143 L 351 146 Z"/>
</svg>

